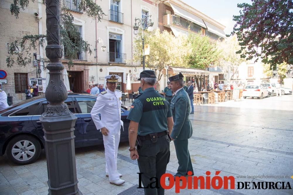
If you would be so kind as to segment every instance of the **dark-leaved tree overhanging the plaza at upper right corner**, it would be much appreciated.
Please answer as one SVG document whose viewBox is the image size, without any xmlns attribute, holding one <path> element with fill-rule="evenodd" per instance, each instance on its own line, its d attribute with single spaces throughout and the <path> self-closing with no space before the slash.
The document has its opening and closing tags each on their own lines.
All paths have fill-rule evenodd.
<svg viewBox="0 0 293 195">
<path fill-rule="evenodd" d="M 238 4 L 240 15 L 233 32 L 237 34 L 242 58 L 271 65 L 293 63 L 293 1 L 252 0 Z"/>
</svg>

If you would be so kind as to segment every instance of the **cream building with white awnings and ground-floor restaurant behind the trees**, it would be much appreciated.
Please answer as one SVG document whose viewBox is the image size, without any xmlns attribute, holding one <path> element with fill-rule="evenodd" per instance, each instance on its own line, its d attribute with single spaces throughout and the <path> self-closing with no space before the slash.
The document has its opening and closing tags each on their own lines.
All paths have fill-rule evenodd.
<svg viewBox="0 0 293 195">
<path fill-rule="evenodd" d="M 194 33 L 198 36 L 208 36 L 211 42 L 226 37 L 224 33 L 224 25 L 180 0 L 161 1 L 158 7 L 158 24 L 161 32 L 166 30 L 172 32 L 176 37 L 179 34 L 188 35 L 188 33 Z M 177 69 L 178 68 L 176 67 L 169 68 L 168 75 L 166 75 L 166 69 L 163 70 L 164 75 L 160 80 L 160 90 L 166 87 L 168 80 L 167 77 L 177 73 Z M 204 73 L 202 73 L 202 71 Z M 183 75 L 186 77 L 186 82 L 189 80 L 194 81 L 196 76 L 198 78 L 199 86 L 203 86 L 204 88 L 206 88 L 205 84 L 208 84 L 208 80 L 217 81 L 219 73 L 221 72 L 217 70 L 209 71 L 194 68 L 184 68 L 183 71 Z"/>
</svg>

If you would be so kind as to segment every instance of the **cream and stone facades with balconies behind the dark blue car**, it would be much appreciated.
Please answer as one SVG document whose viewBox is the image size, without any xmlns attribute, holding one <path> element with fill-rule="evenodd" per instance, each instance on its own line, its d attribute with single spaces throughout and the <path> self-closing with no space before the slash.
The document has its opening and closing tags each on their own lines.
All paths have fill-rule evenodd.
<svg viewBox="0 0 293 195">
<path fill-rule="evenodd" d="M 24 90 L 28 84 L 37 82 L 39 95 L 45 93 L 48 70 L 46 68 L 48 59 L 45 55 L 45 46 L 32 51 L 35 62 L 19 68 L 6 66 L 8 43 L 20 39 L 25 34 L 46 34 L 46 12 L 42 0 L 31 2 L 25 10 L 20 10 L 18 19 L 10 13 L 12 0 L 1 2 L 1 48 L 0 48 L 0 70 L 8 73 L 7 84 L 3 84 L 6 93 L 13 96 L 14 103 L 25 99 Z M 158 27 L 158 3 L 157 0 L 106 0 L 96 1 L 105 15 L 101 21 L 89 17 L 79 10 L 79 0 L 62 1 L 62 6 L 70 9 L 74 17 L 74 25 L 79 30 L 81 38 L 91 46 L 91 55 L 78 52 L 74 59 L 74 66 L 68 68 L 66 51 L 64 51 L 62 63 L 67 69 L 70 90 L 83 92 L 88 89 L 89 84 L 105 84 L 105 76 L 117 74 L 121 78 L 118 89 L 126 92 L 127 76 L 130 74 L 132 89 L 128 92 L 137 91 L 139 87 L 139 73 L 142 67 L 138 62 L 132 60 L 133 34 L 135 18 L 144 18 L 151 15 L 154 29 Z M 38 17 L 36 17 L 38 15 Z M 102 46 L 105 46 L 103 51 Z M 35 56 L 33 56 L 35 53 Z M 34 67 L 34 64 L 37 67 Z"/>
</svg>

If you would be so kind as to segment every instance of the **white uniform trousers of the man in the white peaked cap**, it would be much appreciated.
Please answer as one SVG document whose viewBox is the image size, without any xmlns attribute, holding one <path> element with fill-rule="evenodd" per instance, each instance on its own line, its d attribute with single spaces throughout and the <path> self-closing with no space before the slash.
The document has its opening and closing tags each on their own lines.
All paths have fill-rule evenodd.
<svg viewBox="0 0 293 195">
<path fill-rule="evenodd" d="M 103 135 L 105 158 L 106 158 L 106 172 L 109 174 L 109 180 L 114 181 L 119 179 L 117 171 L 117 153 L 120 142 L 120 131 L 116 134 Z"/>
</svg>

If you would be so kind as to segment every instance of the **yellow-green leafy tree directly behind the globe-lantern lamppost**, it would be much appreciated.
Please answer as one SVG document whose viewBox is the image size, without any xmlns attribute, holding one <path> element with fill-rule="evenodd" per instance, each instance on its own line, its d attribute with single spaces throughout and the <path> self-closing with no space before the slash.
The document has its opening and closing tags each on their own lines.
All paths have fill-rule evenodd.
<svg viewBox="0 0 293 195">
<path fill-rule="evenodd" d="M 157 28 L 153 33 L 144 31 L 144 43 L 150 47 L 149 55 L 145 56 L 145 66 L 157 74 L 157 84 L 163 76 L 162 70 L 166 66 L 186 67 L 187 55 L 191 52 L 185 35 L 174 37 L 171 32 Z M 142 31 L 139 31 L 134 40 L 134 61 L 142 64 Z"/>
</svg>

